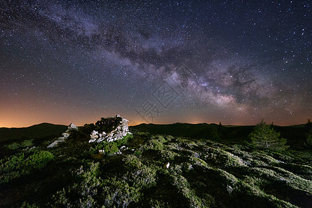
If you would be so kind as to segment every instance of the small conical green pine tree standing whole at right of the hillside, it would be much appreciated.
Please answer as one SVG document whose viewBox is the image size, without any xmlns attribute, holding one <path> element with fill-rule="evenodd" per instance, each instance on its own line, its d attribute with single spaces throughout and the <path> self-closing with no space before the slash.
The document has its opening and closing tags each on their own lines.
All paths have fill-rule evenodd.
<svg viewBox="0 0 312 208">
<path fill-rule="evenodd" d="M 250 133 L 251 146 L 259 149 L 284 150 L 287 139 L 280 138 L 280 133 L 275 132 L 272 125 L 267 125 L 263 119 Z"/>
</svg>

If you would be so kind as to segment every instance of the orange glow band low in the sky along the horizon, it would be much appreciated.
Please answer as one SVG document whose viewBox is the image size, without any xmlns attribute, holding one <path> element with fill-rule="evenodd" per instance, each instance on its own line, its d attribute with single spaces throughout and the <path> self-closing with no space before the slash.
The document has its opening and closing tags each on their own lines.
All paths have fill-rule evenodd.
<svg viewBox="0 0 312 208">
<path fill-rule="evenodd" d="M 96 112 L 96 113 L 89 113 L 89 112 L 70 112 L 69 110 L 63 110 L 60 112 L 60 109 L 53 108 L 49 109 L 49 111 L 46 110 L 45 107 L 39 107 L 35 110 L 13 110 L 14 107 L 7 107 L 5 110 L 0 110 L 1 119 L 0 119 L 0 128 L 24 128 L 29 127 L 31 125 L 37 125 L 40 123 L 53 123 L 55 125 L 69 125 L 70 123 L 73 123 L 78 126 L 82 126 L 85 123 L 96 123 L 101 117 L 107 117 L 107 116 L 115 116 L 116 112 L 112 110 L 111 112 Z M 99 116 L 100 115 L 100 116 Z M 138 119 L 136 116 L 132 114 L 121 114 L 122 117 L 129 120 L 128 125 L 139 125 L 141 123 L 144 123 L 141 121 L 141 119 Z M 132 119 L 134 117 L 135 119 Z M 162 120 L 161 120 L 162 119 Z M 260 121 L 260 120 L 259 120 Z M 222 125 L 256 125 L 259 123 L 259 121 L 252 121 L 252 122 L 226 122 L 221 121 Z M 271 123 L 272 121 L 264 119 L 267 123 Z M 304 120 L 297 119 L 297 123 L 295 123 L 296 120 L 293 121 L 287 121 L 284 123 L 281 122 L 273 122 L 275 125 L 296 125 L 296 124 L 302 124 L 306 123 Z M 172 117 L 159 117 L 157 122 L 154 122 L 155 124 L 172 124 L 172 123 L 216 123 L 218 124 L 220 121 L 211 121 L 208 120 L 205 121 L 205 119 L 201 119 L 198 117 L 191 117 L 179 119 L 176 120 Z"/>
</svg>

